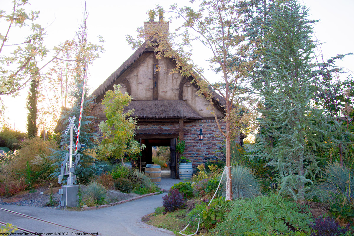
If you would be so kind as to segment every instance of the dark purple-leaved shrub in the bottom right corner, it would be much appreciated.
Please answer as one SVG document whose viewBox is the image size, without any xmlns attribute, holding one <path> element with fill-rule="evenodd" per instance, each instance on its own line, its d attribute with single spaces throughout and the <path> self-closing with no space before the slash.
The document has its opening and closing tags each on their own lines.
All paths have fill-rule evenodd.
<svg viewBox="0 0 354 236">
<path fill-rule="evenodd" d="M 319 217 L 311 226 L 311 236 L 340 236 L 349 231 L 349 228 L 341 228 L 335 219 Z"/>
</svg>

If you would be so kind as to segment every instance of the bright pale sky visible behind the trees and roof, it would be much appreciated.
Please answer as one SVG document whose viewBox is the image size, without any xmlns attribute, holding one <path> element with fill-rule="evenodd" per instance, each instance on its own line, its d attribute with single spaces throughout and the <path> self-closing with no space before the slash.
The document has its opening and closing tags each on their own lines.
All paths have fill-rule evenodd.
<svg viewBox="0 0 354 236">
<path fill-rule="evenodd" d="M 179 0 L 179 6 L 189 5 L 189 1 Z M 314 25 L 314 32 L 320 42 L 325 58 L 339 53 L 354 52 L 354 1 L 353 0 L 304 0 L 310 8 L 310 18 L 320 19 Z M 84 0 L 30 0 L 30 9 L 40 11 L 38 23 L 47 27 L 45 44 L 48 49 L 61 42 L 73 39 L 83 18 Z M 126 35 L 135 36 L 135 30 L 147 21 L 147 10 L 155 5 L 165 9 L 175 1 L 113 1 L 113 0 L 87 0 L 86 7 L 89 13 L 87 20 L 89 41 L 97 43 L 97 36 L 104 40 L 105 52 L 89 67 L 88 86 L 91 92 L 103 83 L 126 59 L 134 52 L 126 42 Z M 1 10 L 11 11 L 11 0 L 1 0 Z M 168 16 L 167 16 L 168 17 Z M 157 20 L 157 19 L 156 19 Z M 0 25 L 3 22 L 0 21 Z M 170 31 L 178 25 L 170 24 Z M 5 34 L 3 28 L 0 32 Z M 10 31 L 11 35 L 11 31 Z M 198 51 L 199 50 L 199 51 Z M 194 60 L 198 64 L 207 64 L 201 56 L 201 50 L 194 50 Z M 354 56 L 347 56 L 339 66 L 354 71 Z M 354 73 L 352 73 L 354 74 Z M 209 75 L 209 73 L 208 73 Z M 8 107 L 6 115 L 10 118 L 10 125 L 19 131 L 26 131 L 27 110 L 25 100 L 27 90 L 20 92 L 16 98 L 2 97 Z"/>
</svg>

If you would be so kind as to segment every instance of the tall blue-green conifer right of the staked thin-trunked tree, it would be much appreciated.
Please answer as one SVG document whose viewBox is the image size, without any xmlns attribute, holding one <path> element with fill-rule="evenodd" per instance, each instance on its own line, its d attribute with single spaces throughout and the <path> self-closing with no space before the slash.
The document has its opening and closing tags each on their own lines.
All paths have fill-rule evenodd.
<svg viewBox="0 0 354 236">
<path fill-rule="evenodd" d="M 260 110 L 262 127 L 253 145 L 255 154 L 268 160 L 279 171 L 280 192 L 304 202 L 311 175 L 318 171 L 314 151 L 326 145 L 331 127 L 321 110 L 312 106 L 312 52 L 308 9 L 296 0 L 281 2 L 269 11 L 259 68 L 258 90 L 264 106 Z M 262 83 L 262 87 L 259 86 Z"/>
</svg>

